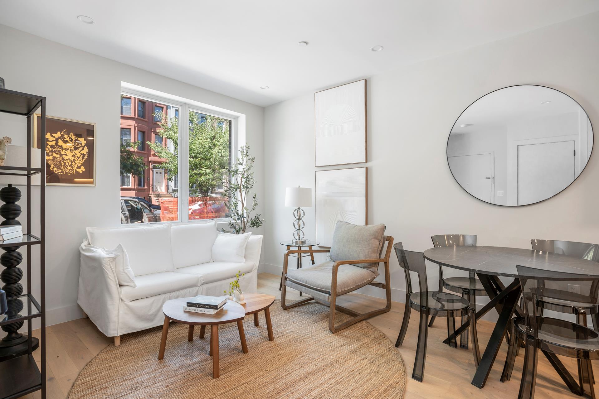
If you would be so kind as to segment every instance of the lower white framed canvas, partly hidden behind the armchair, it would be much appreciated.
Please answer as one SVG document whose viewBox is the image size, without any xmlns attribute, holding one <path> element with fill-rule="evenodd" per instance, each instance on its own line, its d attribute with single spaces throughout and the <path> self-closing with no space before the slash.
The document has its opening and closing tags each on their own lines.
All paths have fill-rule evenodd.
<svg viewBox="0 0 599 399">
<path fill-rule="evenodd" d="M 367 224 L 367 167 L 316 171 L 316 239 L 331 246 L 337 221 Z"/>
</svg>

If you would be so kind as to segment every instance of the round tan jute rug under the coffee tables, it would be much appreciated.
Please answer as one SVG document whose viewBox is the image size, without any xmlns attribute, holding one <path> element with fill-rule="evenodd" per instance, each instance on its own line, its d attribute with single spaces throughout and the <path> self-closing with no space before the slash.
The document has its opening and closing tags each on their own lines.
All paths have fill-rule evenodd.
<svg viewBox="0 0 599 399">
<path fill-rule="evenodd" d="M 188 342 L 187 325 L 171 323 L 163 360 L 161 327 L 128 334 L 81 370 L 68 398 L 403 398 L 406 367 L 388 337 L 364 321 L 331 334 L 328 310 L 317 303 L 283 310 L 276 301 L 273 342 L 264 312 L 258 327 L 247 316 L 247 354 L 237 324 L 221 325 L 218 379 L 208 356 L 210 328 L 200 339 L 196 327 Z M 338 313 L 337 322 L 344 319 Z"/>
</svg>

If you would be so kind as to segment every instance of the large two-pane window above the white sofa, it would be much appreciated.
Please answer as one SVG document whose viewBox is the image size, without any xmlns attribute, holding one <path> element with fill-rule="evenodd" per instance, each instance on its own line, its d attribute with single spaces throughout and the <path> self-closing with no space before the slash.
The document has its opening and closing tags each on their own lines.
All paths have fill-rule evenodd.
<svg viewBox="0 0 599 399">
<path fill-rule="evenodd" d="M 132 94 L 122 95 L 122 99 L 129 99 L 129 108 L 131 102 L 137 105 L 138 117 L 146 109 L 153 112 L 144 126 L 137 126 L 131 118 L 121 121 L 126 126 L 121 129 L 121 140 L 129 142 L 121 151 L 122 223 L 228 217 L 224 187 L 233 157 L 235 118 L 186 103 Z M 136 141 L 133 145 L 132 140 Z M 180 142 L 186 144 L 183 151 Z M 125 197 L 147 201 L 151 215 L 127 216 L 129 209 L 139 207 L 123 205 Z"/>
</svg>

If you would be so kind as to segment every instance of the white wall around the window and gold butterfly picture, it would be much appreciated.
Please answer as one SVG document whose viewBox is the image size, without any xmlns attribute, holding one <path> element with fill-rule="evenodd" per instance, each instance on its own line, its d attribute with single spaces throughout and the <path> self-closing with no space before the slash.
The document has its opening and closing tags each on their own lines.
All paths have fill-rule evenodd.
<svg viewBox="0 0 599 399">
<path fill-rule="evenodd" d="M 5 79 L 7 89 L 46 96 L 48 115 L 97 124 L 96 187 L 46 188 L 48 324 L 81 316 L 76 304 L 78 246 L 85 236 L 85 227 L 120 224 L 117 204 L 120 196 L 121 81 L 245 114 L 246 141 L 257 160 L 255 175 L 258 184 L 255 191 L 261 200 L 259 211 L 264 213 L 262 107 L 66 47 L 4 25 L 0 25 L 0 76 Z M 2 136 L 24 135 L 25 130 L 24 124 L 18 129 L 12 119 L 7 124 L 0 124 Z M 34 267 L 34 270 L 37 275 L 38 267 Z M 34 282 L 37 282 L 35 275 Z M 39 287 L 38 282 L 34 285 Z"/>
</svg>

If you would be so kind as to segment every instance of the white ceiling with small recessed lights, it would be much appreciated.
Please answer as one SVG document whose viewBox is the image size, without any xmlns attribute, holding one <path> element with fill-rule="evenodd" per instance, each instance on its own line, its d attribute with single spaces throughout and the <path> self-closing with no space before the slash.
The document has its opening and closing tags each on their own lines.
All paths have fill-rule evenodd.
<svg viewBox="0 0 599 399">
<path fill-rule="evenodd" d="M 1 8 L 1 24 L 266 106 L 599 11 L 599 1 L 28 0 Z"/>
</svg>

